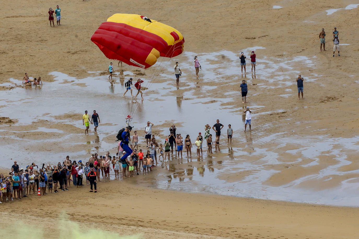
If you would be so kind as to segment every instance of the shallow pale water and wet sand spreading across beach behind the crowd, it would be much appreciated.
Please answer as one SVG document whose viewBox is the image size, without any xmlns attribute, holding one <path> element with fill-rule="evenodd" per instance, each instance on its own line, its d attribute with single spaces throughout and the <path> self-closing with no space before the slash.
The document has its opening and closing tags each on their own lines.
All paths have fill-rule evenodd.
<svg viewBox="0 0 359 239">
<path fill-rule="evenodd" d="M 213 125 L 216 119 L 220 119 L 220 122 L 225 125 L 224 132 L 227 125 L 232 124 L 236 134 L 233 140 L 239 142 L 238 148 L 228 148 L 225 137 L 222 137 L 221 153 L 208 155 L 204 145 L 203 159 L 196 159 L 194 150 L 192 160 L 174 158 L 171 162 L 160 162 L 159 167 L 155 169 L 157 173 L 153 173 L 156 175 L 155 180 L 153 180 L 154 176 L 147 178 L 141 176 L 137 177 L 136 180 L 153 187 L 173 190 L 358 206 L 356 202 L 358 195 L 352 191 L 358 192 L 359 190 L 355 190 L 357 186 L 350 181 L 342 181 L 340 187 L 322 191 L 318 191 L 314 187 L 302 186 L 303 183 L 312 178 L 321 181 L 323 177 L 335 178 L 337 175 L 344 174 L 353 179 L 354 176 L 351 175 L 355 175 L 358 173 L 357 171 L 340 172 L 338 168 L 349 163 L 346 161 L 345 152 L 349 149 L 357 150 L 358 138 L 297 137 L 295 134 L 293 135 L 293 132 L 302 130 L 300 124 L 303 122 L 298 122 L 298 125 L 291 128 L 293 124 L 290 122 L 293 119 L 286 119 L 285 117 L 280 122 L 276 122 L 275 126 L 269 122 L 261 125 L 261 130 L 253 130 L 253 132 L 246 134 L 239 133 L 244 128 L 244 118 L 241 113 L 244 106 L 243 109 L 234 109 L 231 106 L 231 102 L 240 100 L 240 97 L 237 97 L 239 81 L 245 79 L 249 81 L 250 85 L 251 80 L 254 81 L 258 78 L 262 82 L 258 83 L 259 89 L 266 90 L 268 85 L 274 83 L 277 87 L 283 87 L 286 92 L 292 91 L 295 96 L 296 93 L 293 91 L 296 89 L 294 78 L 300 73 L 295 66 L 305 64 L 309 69 L 315 68 L 311 58 L 303 56 L 293 58 L 260 56 L 260 49 L 263 47 L 247 48 L 236 53 L 229 51 L 201 54 L 185 52 L 180 57 L 171 59 L 164 66 L 166 70 L 158 74 L 157 80 L 151 84 L 149 91 L 147 91 L 145 100 L 139 100 L 139 104 L 131 104 L 130 97 L 121 97 L 124 92 L 124 80 L 135 76 L 134 70 L 131 70 L 135 68 L 130 67 L 125 67 L 125 71 L 121 75 L 115 74 L 116 83 L 113 87 L 109 86 L 108 76 L 101 76 L 101 72 L 93 72 L 92 77 L 83 79 L 70 77 L 61 72 L 51 72 L 50 74 L 55 76 L 55 81 L 45 82 L 42 87 L 17 87 L 9 91 L 0 91 L 0 100 L 4 102 L 4 106 L 0 108 L 0 113 L 10 119 L 19 119 L 19 122 L 14 126 L 27 126 L 31 125 L 33 121 L 41 120 L 39 122 L 43 125 L 36 125 L 36 128 L 29 130 L 29 133 L 35 132 L 37 134 L 38 131 L 42 131 L 50 133 L 50 135 L 51 133 L 59 135 L 58 138 L 53 137 L 46 140 L 22 139 L 17 137 L 19 134 L 16 134 L 15 137 L 11 134 L 5 135 L 9 126 L 0 126 L 0 136 L 14 140 L 14 142 L 11 141 L 13 143 L 0 145 L 2 156 L 3 158 L 13 158 L 13 152 L 16 150 L 17 156 L 25 158 L 25 161 L 28 162 L 36 161 L 36 158 L 47 158 L 48 162 L 57 163 L 65 155 L 70 155 L 71 158 L 75 159 L 84 159 L 89 153 L 99 152 L 102 154 L 101 152 L 116 147 L 115 132 L 123 126 L 123 116 L 129 112 L 133 114 L 132 125 L 135 129 L 142 129 L 146 121 L 150 120 L 155 123 L 153 131 L 157 130 L 157 132 L 168 134 L 169 124 L 173 122 L 177 126 L 177 133 L 190 134 L 192 141 L 195 140 L 198 132 L 204 133 L 206 123 Z M 251 67 L 249 56 L 252 50 L 258 51 L 256 52 L 256 75 L 249 73 Z M 238 59 L 241 52 L 247 56 L 248 62 L 248 76 L 243 75 L 243 77 L 239 75 Z M 194 75 L 193 58 L 195 55 L 198 56 L 202 66 L 198 80 L 195 80 Z M 174 85 L 173 67 L 176 61 L 180 62 L 183 72 L 179 87 Z M 320 77 L 314 73 L 308 74 L 308 76 L 304 76 L 302 73 L 307 81 L 314 82 Z M 149 77 L 140 76 L 145 81 L 143 87 L 150 85 L 148 84 Z M 20 80 L 10 79 L 10 81 L 13 84 L 21 84 Z M 218 95 L 218 98 L 213 98 L 216 85 L 222 81 L 230 86 L 227 93 L 233 97 L 228 98 L 227 95 L 223 94 L 223 96 Z M 130 92 L 127 95 L 130 95 Z M 286 97 L 290 94 L 282 96 Z M 256 105 L 255 102 L 250 105 L 255 112 L 253 120 L 262 115 L 281 114 L 284 111 L 282 109 L 266 111 L 265 106 Z M 91 113 L 93 109 L 97 110 L 101 118 L 98 128 L 99 134 L 85 136 L 82 134 L 84 130 L 82 114 L 85 110 Z M 218 111 L 219 109 L 220 111 Z M 313 122 L 304 123 L 310 126 Z M 59 126 L 53 129 L 48 124 L 52 126 L 59 124 Z M 74 129 L 67 129 L 70 125 L 75 126 Z M 163 128 L 159 128 L 157 125 L 163 125 Z M 15 129 L 12 129 L 13 132 L 17 132 Z M 76 132 L 75 129 L 80 129 L 81 133 Z M 93 132 L 92 129 L 93 126 L 90 126 L 90 132 Z M 320 131 L 318 132 L 320 134 Z M 161 142 L 163 141 L 157 135 L 156 138 Z M 45 148 L 45 150 L 36 153 L 29 153 L 26 150 L 29 148 L 28 145 L 31 147 L 32 144 L 47 143 L 58 145 L 62 151 L 48 152 Z M 143 139 L 140 139 L 139 143 L 143 146 Z M 294 146 L 289 147 L 287 144 Z M 81 147 L 75 148 L 76 145 Z M 289 158 L 283 157 L 283 152 L 279 152 L 279 149 L 294 155 L 292 157 L 294 160 L 290 161 Z M 185 156 L 186 152 L 183 153 Z M 335 155 L 338 162 L 322 168 L 320 171 L 313 171 L 309 175 L 293 179 L 281 186 L 273 186 L 268 182 L 271 177 L 280 173 L 290 163 L 303 162 L 303 166 L 297 165 L 303 170 L 315 167 L 323 153 Z M 313 160 L 308 161 L 308 159 Z M 289 168 L 292 167 L 294 166 L 289 166 Z M 334 180 L 331 180 L 330 177 L 323 178 L 323 181 L 330 183 Z"/>
</svg>

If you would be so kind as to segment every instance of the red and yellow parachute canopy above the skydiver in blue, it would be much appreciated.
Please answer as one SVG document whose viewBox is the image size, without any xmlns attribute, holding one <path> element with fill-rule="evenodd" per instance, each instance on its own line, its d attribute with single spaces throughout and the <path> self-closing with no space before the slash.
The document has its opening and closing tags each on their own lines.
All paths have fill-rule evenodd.
<svg viewBox="0 0 359 239">
<path fill-rule="evenodd" d="M 137 14 L 116 13 L 102 23 L 91 37 L 109 59 L 148 68 L 157 58 L 183 52 L 185 39 L 178 30 Z"/>
</svg>

